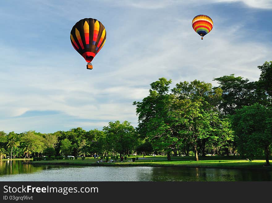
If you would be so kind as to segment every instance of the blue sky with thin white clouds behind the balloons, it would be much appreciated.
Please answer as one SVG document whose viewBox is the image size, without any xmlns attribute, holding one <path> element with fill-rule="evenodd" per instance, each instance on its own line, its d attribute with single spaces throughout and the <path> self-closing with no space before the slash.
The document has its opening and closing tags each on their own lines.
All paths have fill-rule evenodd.
<svg viewBox="0 0 272 203">
<path fill-rule="evenodd" d="M 256 81 L 271 61 L 270 0 L 4 1 L 0 7 L 0 131 L 100 129 L 127 120 L 134 101 L 160 77 L 210 82 L 234 73 Z M 214 27 L 203 40 L 194 16 Z M 83 18 L 100 20 L 107 40 L 93 70 L 72 47 Z"/>
</svg>

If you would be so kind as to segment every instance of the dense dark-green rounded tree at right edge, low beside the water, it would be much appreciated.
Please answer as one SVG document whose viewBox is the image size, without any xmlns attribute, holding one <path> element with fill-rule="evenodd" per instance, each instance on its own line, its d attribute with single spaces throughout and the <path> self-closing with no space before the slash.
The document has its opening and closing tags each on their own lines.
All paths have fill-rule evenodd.
<svg viewBox="0 0 272 203">
<path fill-rule="evenodd" d="M 266 165 L 269 163 L 269 146 L 272 143 L 272 109 L 253 104 L 236 110 L 232 116 L 232 126 L 238 137 L 240 154 L 254 159 L 265 154 Z"/>
</svg>

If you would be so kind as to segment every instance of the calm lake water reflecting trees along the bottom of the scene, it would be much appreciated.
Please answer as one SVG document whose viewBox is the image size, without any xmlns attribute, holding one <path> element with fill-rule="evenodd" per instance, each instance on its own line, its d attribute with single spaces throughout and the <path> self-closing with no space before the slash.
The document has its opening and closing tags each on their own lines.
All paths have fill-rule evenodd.
<svg viewBox="0 0 272 203">
<path fill-rule="evenodd" d="M 271 170 L 31 165 L 0 161 L 0 181 L 272 181 Z"/>
</svg>

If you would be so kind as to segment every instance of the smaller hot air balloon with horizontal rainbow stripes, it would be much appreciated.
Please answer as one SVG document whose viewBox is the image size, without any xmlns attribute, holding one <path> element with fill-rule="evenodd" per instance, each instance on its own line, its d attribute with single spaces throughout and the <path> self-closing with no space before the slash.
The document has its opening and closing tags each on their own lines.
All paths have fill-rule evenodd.
<svg viewBox="0 0 272 203">
<path fill-rule="evenodd" d="M 194 31 L 203 39 L 203 37 L 211 31 L 214 23 L 207 15 L 197 15 L 193 18 L 192 26 Z"/>
</svg>

